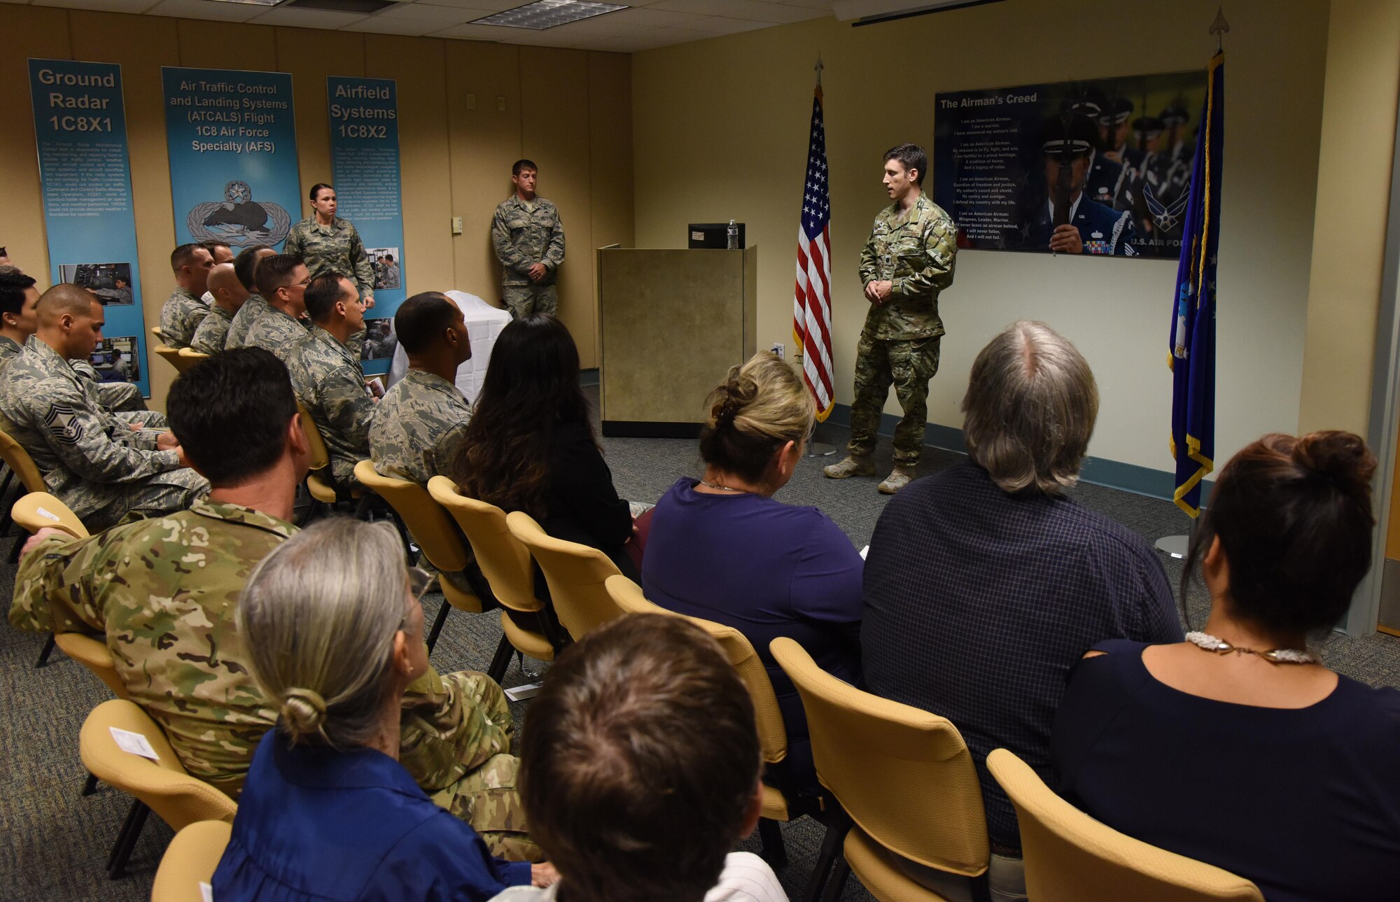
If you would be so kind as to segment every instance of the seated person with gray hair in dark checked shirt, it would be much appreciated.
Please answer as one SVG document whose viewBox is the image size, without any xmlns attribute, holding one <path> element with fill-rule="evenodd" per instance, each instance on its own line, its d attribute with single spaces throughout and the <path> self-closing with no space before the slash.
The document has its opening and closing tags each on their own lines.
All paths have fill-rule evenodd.
<svg viewBox="0 0 1400 902">
<path fill-rule="evenodd" d="M 981 780 L 991 898 L 1009 902 L 1025 898 L 1021 833 L 987 754 L 1008 748 L 1053 783 L 1070 668 L 1105 639 L 1182 641 L 1182 626 L 1147 542 L 1065 496 L 1099 413 L 1079 350 L 1043 322 L 1014 322 L 977 354 L 962 406 L 967 459 L 910 483 L 875 525 L 861 650 L 871 692 L 962 733 Z"/>
</svg>

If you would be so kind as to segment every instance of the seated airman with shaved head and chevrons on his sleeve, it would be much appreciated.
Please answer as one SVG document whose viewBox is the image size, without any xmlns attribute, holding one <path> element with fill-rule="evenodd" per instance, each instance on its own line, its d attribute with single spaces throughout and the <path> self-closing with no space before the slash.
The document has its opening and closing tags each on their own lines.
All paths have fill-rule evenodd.
<svg viewBox="0 0 1400 902">
<path fill-rule="evenodd" d="M 39 297 L 38 332 L 0 381 L 0 429 L 34 458 L 49 492 L 90 532 L 189 507 L 209 482 L 189 469 L 174 434 L 133 429 L 84 389 L 69 359 L 102 338 L 102 304 L 57 284 Z"/>
</svg>

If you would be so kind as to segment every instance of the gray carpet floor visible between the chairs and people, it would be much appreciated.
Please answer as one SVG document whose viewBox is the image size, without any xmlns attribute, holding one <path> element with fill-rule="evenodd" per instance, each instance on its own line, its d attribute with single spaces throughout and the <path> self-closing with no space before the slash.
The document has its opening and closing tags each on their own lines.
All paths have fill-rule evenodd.
<svg viewBox="0 0 1400 902">
<path fill-rule="evenodd" d="M 596 401 L 596 388 L 589 389 Z M 818 440 L 843 447 L 846 434 L 822 426 Z M 700 461 L 693 441 L 662 438 L 605 438 L 602 441 L 617 490 L 624 497 L 655 501 L 676 479 L 699 475 Z M 815 504 L 826 511 L 861 548 L 869 542 L 885 496 L 875 492 L 879 476 L 843 482 L 823 479 L 820 466 L 839 458 L 813 458 L 778 499 L 792 504 Z M 928 475 L 959 459 L 959 455 L 930 448 L 918 473 Z M 881 443 L 876 452 L 881 473 L 889 472 L 890 448 Z M 1074 497 L 1123 522 L 1152 542 L 1186 531 L 1187 518 L 1170 501 L 1148 499 L 1102 486 L 1081 485 Z M 0 553 L 10 539 L 0 541 Z M 1173 585 L 1180 581 L 1180 563 L 1165 560 Z M 0 601 L 8 611 L 14 567 L 0 564 Z M 441 597 L 430 594 L 424 604 L 431 618 Z M 1191 622 L 1204 623 L 1207 598 L 1194 588 L 1187 598 Z M 433 662 L 441 671 L 486 669 L 500 640 L 498 616 L 454 612 L 442 630 Z M 129 798 L 101 787 L 87 798 L 80 796 L 84 770 L 77 754 L 83 717 L 108 691 L 80 664 L 55 653 L 49 665 L 35 669 L 43 637 L 0 627 L 0 747 L 8 749 L 10 766 L 0 776 L 0 895 L 6 899 L 148 899 L 151 880 L 171 831 L 150 818 L 132 856 L 127 877 L 111 881 L 102 868 L 112 839 L 126 815 Z M 1329 637 L 1322 648 L 1324 661 L 1372 685 L 1400 686 L 1400 639 L 1376 634 L 1352 639 Z M 511 665 L 504 685 L 529 682 Z M 528 716 L 528 702 L 512 706 L 517 723 Z M 788 894 L 801 895 L 811 877 L 820 825 L 811 819 L 783 828 L 790 864 L 780 877 Z M 757 839 L 743 843 L 757 850 Z M 841 896 L 869 899 L 853 877 Z"/>
</svg>

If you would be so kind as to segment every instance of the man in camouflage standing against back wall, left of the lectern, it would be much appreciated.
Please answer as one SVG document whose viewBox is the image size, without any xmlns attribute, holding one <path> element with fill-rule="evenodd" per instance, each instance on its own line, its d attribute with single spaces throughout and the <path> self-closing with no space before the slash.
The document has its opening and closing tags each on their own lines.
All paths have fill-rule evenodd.
<svg viewBox="0 0 1400 902">
<path fill-rule="evenodd" d="M 511 317 L 559 312 L 554 280 L 564 262 L 564 224 L 559 207 L 535 196 L 539 174 L 529 160 L 511 167 L 515 193 L 496 207 L 491 218 L 491 247 L 501 261 L 501 297 Z"/>
</svg>

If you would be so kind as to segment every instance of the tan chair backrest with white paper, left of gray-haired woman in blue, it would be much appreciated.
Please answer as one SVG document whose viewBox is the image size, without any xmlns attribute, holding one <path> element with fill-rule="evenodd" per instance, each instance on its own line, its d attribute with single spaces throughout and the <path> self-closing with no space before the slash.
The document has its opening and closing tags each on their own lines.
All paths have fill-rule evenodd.
<svg viewBox="0 0 1400 902">
<path fill-rule="evenodd" d="M 157 759 L 122 751 L 112 727 L 144 735 Z M 125 699 L 92 709 L 78 733 L 78 752 L 88 773 L 144 801 L 171 829 L 195 821 L 232 821 L 238 811 L 232 798 L 185 773 L 160 726 Z"/>
</svg>

